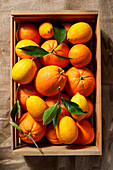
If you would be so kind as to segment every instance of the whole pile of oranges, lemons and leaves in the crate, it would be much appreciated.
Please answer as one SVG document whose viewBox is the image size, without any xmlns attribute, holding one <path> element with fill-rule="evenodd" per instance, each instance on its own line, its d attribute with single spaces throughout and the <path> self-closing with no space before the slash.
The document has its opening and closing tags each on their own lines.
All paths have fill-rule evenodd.
<svg viewBox="0 0 113 170">
<path fill-rule="evenodd" d="M 94 75 L 85 67 L 92 59 L 85 45 L 91 38 L 92 28 L 85 22 L 18 27 L 15 52 L 20 60 L 12 79 L 19 86 L 11 124 L 22 141 L 36 144 L 45 134 L 52 144 L 87 145 L 94 140 L 86 120 L 94 112 L 86 98 L 95 87 Z M 15 122 L 19 105 L 24 113 Z"/>
</svg>

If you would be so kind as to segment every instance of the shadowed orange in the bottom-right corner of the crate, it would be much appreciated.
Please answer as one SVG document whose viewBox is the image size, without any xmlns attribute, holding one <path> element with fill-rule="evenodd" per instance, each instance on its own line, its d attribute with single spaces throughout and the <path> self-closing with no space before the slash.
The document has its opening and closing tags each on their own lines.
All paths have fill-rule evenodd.
<svg viewBox="0 0 113 170">
<path fill-rule="evenodd" d="M 74 143 L 79 145 L 88 145 L 90 144 L 95 137 L 94 129 L 92 124 L 87 120 L 81 120 L 80 122 L 76 122 L 79 133 L 78 138 Z"/>
</svg>

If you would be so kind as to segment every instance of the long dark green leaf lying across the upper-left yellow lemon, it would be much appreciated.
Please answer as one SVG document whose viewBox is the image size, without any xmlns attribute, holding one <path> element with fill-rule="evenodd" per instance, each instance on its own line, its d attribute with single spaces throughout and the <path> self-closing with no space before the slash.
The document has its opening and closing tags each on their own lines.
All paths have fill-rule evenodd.
<svg viewBox="0 0 113 170">
<path fill-rule="evenodd" d="M 46 50 L 44 50 L 43 48 L 37 47 L 37 46 L 27 46 L 27 47 L 22 47 L 22 48 L 19 48 L 19 49 L 21 49 L 26 54 L 31 55 L 33 57 L 42 57 L 42 56 L 47 55 L 49 53 Z"/>
</svg>

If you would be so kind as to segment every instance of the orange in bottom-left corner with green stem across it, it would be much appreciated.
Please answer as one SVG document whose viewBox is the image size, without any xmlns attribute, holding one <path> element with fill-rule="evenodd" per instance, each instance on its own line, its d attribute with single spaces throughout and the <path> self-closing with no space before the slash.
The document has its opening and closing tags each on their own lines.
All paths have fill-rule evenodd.
<svg viewBox="0 0 113 170">
<path fill-rule="evenodd" d="M 46 133 L 46 126 L 43 125 L 43 122 L 36 121 L 28 112 L 24 113 L 16 123 L 18 124 L 19 128 L 27 135 L 29 135 L 29 132 L 31 132 L 31 137 L 35 142 L 41 140 Z M 26 143 L 33 143 L 30 138 L 19 131 L 18 135 L 22 141 Z"/>
</svg>

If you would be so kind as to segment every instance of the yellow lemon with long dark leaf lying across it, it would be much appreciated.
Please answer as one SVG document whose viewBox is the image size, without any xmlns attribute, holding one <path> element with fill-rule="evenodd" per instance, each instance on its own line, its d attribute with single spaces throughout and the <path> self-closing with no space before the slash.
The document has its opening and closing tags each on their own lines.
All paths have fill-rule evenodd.
<svg viewBox="0 0 113 170">
<path fill-rule="evenodd" d="M 16 44 L 16 47 L 15 47 L 15 52 L 16 52 L 17 56 L 21 59 L 23 59 L 23 58 L 34 58 L 34 59 L 36 59 L 36 57 L 30 56 L 29 54 L 26 54 L 21 49 L 19 49 L 19 48 L 27 47 L 27 46 L 37 46 L 38 47 L 39 45 L 36 44 L 32 40 L 21 40 Z"/>
</svg>

